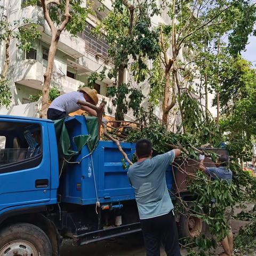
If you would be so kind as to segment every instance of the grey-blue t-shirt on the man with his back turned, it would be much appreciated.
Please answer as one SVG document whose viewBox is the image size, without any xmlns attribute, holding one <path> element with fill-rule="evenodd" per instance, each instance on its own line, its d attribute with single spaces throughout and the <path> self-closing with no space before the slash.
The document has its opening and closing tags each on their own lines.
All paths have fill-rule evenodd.
<svg viewBox="0 0 256 256">
<path fill-rule="evenodd" d="M 135 190 L 140 219 L 169 213 L 173 204 L 166 186 L 165 172 L 174 160 L 174 151 L 148 158 L 129 167 L 127 176 Z"/>
</svg>

